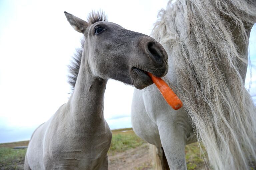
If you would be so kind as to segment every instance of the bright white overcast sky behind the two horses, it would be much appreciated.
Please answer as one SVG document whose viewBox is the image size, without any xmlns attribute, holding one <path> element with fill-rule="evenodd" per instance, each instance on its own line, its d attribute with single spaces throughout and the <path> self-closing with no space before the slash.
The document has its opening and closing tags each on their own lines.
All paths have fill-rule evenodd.
<svg viewBox="0 0 256 170">
<path fill-rule="evenodd" d="M 29 139 L 68 100 L 67 65 L 82 34 L 69 25 L 64 11 L 86 20 L 92 9 L 103 9 L 108 21 L 150 35 L 166 4 L 167 0 L 0 0 L 0 143 Z M 255 66 L 255 28 L 250 41 Z M 253 68 L 252 91 L 255 73 Z M 131 126 L 132 93 L 131 86 L 108 82 L 104 116 L 112 129 Z"/>
</svg>

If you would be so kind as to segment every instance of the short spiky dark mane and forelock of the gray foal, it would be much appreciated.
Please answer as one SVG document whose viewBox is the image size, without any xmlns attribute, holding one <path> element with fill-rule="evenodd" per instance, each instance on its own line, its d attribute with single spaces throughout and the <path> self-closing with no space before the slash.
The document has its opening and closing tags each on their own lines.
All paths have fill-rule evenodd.
<svg viewBox="0 0 256 170">
<path fill-rule="evenodd" d="M 94 12 L 92 11 L 87 18 L 87 21 L 89 24 L 94 24 L 99 21 L 107 21 L 107 16 L 103 11 L 98 11 Z M 70 65 L 68 66 L 69 68 L 69 74 L 68 74 L 68 83 L 71 86 L 71 94 L 73 93 L 77 76 L 79 73 L 80 69 L 80 64 L 81 64 L 81 59 L 82 59 L 82 53 L 83 53 L 83 48 L 84 48 L 84 42 L 85 42 L 85 37 L 81 38 L 81 46 L 80 48 L 76 49 L 76 52 L 74 53 L 74 56 L 71 59 Z"/>
</svg>

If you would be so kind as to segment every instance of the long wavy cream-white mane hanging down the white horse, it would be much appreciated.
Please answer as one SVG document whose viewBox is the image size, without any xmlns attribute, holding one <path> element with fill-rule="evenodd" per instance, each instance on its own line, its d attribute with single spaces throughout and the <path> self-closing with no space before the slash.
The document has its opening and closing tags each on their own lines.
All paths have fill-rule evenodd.
<svg viewBox="0 0 256 170">
<path fill-rule="evenodd" d="M 255 22 L 254 0 L 177 0 L 159 12 L 152 32 L 170 51 L 176 92 L 214 169 L 246 169 L 256 160 L 256 109 L 240 71 L 247 52 L 231 32 L 248 44 L 245 27 Z"/>
</svg>

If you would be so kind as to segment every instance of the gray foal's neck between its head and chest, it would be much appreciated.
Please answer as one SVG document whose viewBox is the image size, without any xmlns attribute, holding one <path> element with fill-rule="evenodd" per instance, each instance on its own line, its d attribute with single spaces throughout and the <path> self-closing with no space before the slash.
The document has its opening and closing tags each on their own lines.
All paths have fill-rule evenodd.
<svg viewBox="0 0 256 170">
<path fill-rule="evenodd" d="M 104 120 L 103 105 L 107 80 L 94 76 L 84 58 L 82 57 L 74 91 L 69 99 L 70 111 L 77 120 L 86 119 L 84 123 L 95 123 Z"/>
</svg>

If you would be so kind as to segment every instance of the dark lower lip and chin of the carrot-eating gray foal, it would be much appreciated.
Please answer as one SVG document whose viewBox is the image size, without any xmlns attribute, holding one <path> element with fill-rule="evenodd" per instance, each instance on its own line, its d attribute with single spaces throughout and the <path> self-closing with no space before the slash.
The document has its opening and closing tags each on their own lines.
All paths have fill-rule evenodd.
<svg viewBox="0 0 256 170">
<path fill-rule="evenodd" d="M 132 85 L 137 89 L 144 89 L 153 84 L 151 78 L 146 74 L 146 71 L 133 67 L 130 70 Z"/>
</svg>

